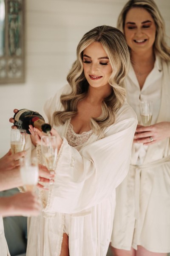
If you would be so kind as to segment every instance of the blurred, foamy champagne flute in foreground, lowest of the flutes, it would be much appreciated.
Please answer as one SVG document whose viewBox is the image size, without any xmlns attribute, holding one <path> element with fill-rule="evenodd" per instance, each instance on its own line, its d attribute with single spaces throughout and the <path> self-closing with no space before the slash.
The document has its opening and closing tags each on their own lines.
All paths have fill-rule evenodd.
<svg viewBox="0 0 170 256">
<path fill-rule="evenodd" d="M 20 175 L 24 189 L 33 192 L 39 177 L 37 157 L 22 157 L 20 159 Z"/>
</svg>

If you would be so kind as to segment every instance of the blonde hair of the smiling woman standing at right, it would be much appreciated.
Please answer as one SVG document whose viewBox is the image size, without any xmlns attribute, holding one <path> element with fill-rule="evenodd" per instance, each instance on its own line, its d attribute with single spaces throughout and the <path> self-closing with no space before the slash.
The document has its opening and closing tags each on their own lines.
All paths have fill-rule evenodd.
<svg viewBox="0 0 170 256">
<path fill-rule="evenodd" d="M 165 23 L 153 0 L 129 0 L 122 9 L 117 21 L 117 28 L 124 32 L 127 12 L 131 8 L 144 8 L 153 17 L 156 24 L 156 39 L 154 42 L 155 52 L 164 60 L 170 61 L 170 47 L 166 43 Z"/>
</svg>

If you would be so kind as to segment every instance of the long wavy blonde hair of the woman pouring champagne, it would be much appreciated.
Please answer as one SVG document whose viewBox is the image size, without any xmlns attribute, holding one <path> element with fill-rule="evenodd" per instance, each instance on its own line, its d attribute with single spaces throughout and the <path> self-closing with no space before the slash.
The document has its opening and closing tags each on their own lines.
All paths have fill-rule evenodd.
<svg viewBox="0 0 170 256">
<path fill-rule="evenodd" d="M 64 111 L 54 112 L 55 125 L 64 124 L 67 119 L 77 114 L 77 103 L 88 93 L 88 81 L 83 71 L 83 50 L 93 42 L 100 42 L 108 55 L 112 67 L 109 84 L 112 93 L 102 102 L 102 114 L 98 118 L 91 118 L 91 129 L 95 134 L 102 134 L 103 128 L 115 122 L 116 111 L 125 101 L 124 79 L 128 72 L 130 54 L 123 33 L 111 26 L 98 26 L 87 32 L 77 46 L 77 60 L 67 76 L 72 88 L 68 95 L 61 95 L 60 99 Z"/>
</svg>

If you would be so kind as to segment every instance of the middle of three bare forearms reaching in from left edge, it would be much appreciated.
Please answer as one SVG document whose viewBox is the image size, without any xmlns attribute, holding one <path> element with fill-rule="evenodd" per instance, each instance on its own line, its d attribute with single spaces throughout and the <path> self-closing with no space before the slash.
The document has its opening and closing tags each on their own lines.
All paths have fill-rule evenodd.
<svg viewBox="0 0 170 256">
<path fill-rule="evenodd" d="M 0 191 L 23 186 L 19 168 L 0 172 Z"/>
</svg>

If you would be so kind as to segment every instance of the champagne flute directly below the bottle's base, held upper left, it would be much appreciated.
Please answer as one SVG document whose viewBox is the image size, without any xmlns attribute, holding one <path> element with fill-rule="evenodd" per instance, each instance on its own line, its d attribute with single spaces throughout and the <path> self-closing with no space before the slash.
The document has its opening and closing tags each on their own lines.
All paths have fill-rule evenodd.
<svg viewBox="0 0 170 256">
<path fill-rule="evenodd" d="M 11 129 L 12 154 L 23 151 L 25 144 L 26 144 L 26 130 Z"/>
</svg>

